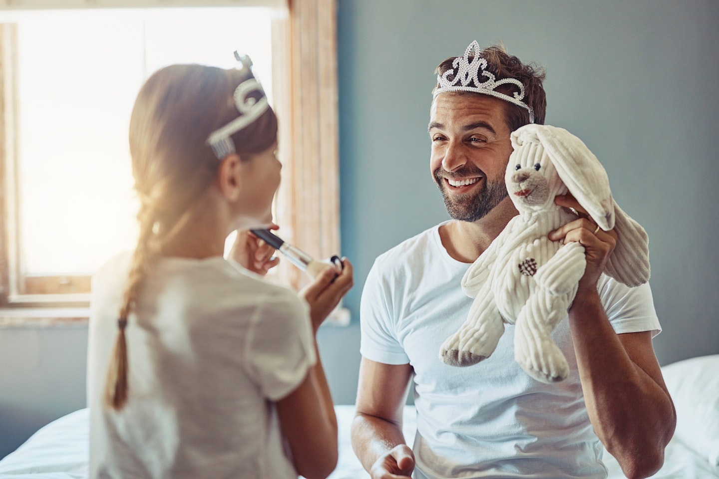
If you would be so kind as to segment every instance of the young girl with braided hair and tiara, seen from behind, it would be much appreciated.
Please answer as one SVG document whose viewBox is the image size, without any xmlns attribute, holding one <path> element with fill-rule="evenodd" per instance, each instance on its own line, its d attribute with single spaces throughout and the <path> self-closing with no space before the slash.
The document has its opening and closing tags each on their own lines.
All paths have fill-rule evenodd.
<svg viewBox="0 0 719 479">
<path fill-rule="evenodd" d="M 277 119 L 251 64 L 172 65 L 140 90 L 130 153 L 134 254 L 94 276 L 91 478 L 325 478 L 337 425 L 315 334 L 352 287 L 328 266 L 301 292 L 265 282 Z M 255 272 L 248 271 L 252 269 Z M 259 274 L 256 274 L 259 273 Z"/>
</svg>

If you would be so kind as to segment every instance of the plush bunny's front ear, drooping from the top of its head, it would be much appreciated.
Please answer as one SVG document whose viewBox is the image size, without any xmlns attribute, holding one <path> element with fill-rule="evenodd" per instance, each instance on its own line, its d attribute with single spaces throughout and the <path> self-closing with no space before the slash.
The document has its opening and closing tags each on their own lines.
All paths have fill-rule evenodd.
<svg viewBox="0 0 719 479">
<path fill-rule="evenodd" d="M 604 231 L 614 227 L 614 200 L 604 167 L 582 140 L 563 128 L 542 125 L 537 136 L 551 163 L 580 202 Z"/>
</svg>

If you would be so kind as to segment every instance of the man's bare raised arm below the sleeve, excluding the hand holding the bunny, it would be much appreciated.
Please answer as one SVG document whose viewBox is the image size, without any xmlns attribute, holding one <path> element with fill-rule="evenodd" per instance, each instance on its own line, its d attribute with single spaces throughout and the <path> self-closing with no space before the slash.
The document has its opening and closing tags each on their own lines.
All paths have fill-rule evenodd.
<svg viewBox="0 0 719 479">
<path fill-rule="evenodd" d="M 617 335 L 598 293 L 577 294 L 569 310 L 574 351 L 592 426 L 629 479 L 664 463 L 677 417 L 651 332 Z"/>
</svg>

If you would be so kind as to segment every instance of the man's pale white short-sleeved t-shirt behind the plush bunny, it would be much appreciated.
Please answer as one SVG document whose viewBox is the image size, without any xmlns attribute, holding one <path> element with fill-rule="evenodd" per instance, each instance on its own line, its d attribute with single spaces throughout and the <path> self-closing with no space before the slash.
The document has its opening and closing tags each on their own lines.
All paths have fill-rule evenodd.
<svg viewBox="0 0 719 479">
<path fill-rule="evenodd" d="M 439 360 L 441 344 L 467 320 L 472 298 L 460 284 L 469 266 L 449 256 L 435 226 L 379 256 L 362 292 L 362 356 L 414 369 L 414 477 L 605 478 L 567 318 L 553 334 L 571 369 L 561 383 L 540 383 L 518 366 L 513 325 L 475 366 Z M 603 276 L 598 287 L 616 332 L 659 332 L 649 285 Z"/>
</svg>

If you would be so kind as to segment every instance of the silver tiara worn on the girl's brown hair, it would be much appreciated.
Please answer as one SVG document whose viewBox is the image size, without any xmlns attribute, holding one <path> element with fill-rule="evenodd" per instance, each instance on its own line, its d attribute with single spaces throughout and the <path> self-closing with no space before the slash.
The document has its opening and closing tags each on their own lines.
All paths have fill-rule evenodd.
<svg viewBox="0 0 719 479">
<path fill-rule="evenodd" d="M 237 58 L 240 64 L 240 71 L 252 72 L 252 60 L 247 55 L 239 55 L 239 53 L 234 52 L 234 57 Z M 252 92 L 260 92 L 262 96 L 260 99 L 253 98 L 249 96 Z M 262 85 L 256 78 L 249 78 L 237 85 L 234 90 L 234 104 L 237 106 L 239 116 L 220 129 L 213 131 L 207 139 L 207 144 L 212 147 L 217 159 L 224 159 L 228 154 L 236 151 L 234 141 L 230 138 L 232 134 L 252 124 L 262 113 L 267 111 L 267 108 L 270 108 L 270 103 L 267 103 L 267 96 L 265 96 L 265 90 L 262 90 Z"/>
</svg>

